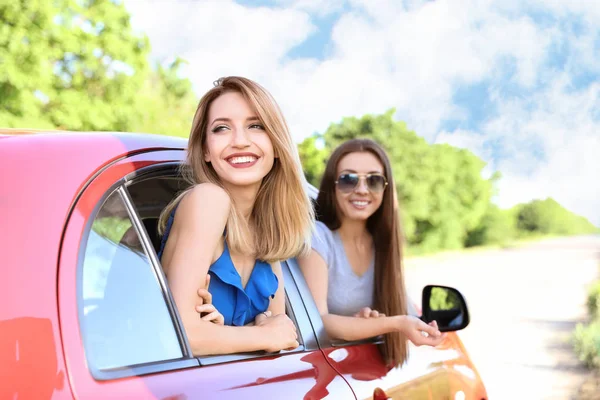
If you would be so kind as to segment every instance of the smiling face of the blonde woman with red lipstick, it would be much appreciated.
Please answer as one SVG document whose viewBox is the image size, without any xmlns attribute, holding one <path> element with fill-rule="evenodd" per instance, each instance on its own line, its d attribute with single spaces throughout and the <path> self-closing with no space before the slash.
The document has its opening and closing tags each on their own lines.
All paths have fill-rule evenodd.
<svg viewBox="0 0 600 400">
<path fill-rule="evenodd" d="M 204 160 L 230 190 L 242 186 L 258 189 L 273 168 L 271 139 L 240 93 L 226 92 L 210 105 Z"/>
</svg>

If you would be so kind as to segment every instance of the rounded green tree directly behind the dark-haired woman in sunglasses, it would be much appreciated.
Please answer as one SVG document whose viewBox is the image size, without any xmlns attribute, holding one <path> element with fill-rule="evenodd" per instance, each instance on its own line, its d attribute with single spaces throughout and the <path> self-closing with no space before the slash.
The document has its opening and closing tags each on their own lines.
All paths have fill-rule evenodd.
<svg viewBox="0 0 600 400">
<path fill-rule="evenodd" d="M 322 135 L 300 144 L 307 178 L 320 180 L 327 155 L 352 138 L 371 138 L 389 155 L 395 190 L 401 205 L 403 228 L 409 242 L 420 250 L 459 248 L 487 209 L 492 180 L 483 179 L 485 163 L 467 150 L 431 145 L 404 122 L 395 110 L 381 115 L 343 118 Z M 323 141 L 323 150 L 316 143 Z"/>
</svg>

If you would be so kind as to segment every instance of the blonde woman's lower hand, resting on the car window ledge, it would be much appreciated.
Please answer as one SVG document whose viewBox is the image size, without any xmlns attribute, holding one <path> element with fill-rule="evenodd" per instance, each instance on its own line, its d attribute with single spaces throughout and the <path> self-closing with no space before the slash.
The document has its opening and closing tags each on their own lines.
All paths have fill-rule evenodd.
<svg viewBox="0 0 600 400">
<path fill-rule="evenodd" d="M 285 314 L 271 316 L 271 311 L 265 311 L 256 316 L 254 324 L 263 329 L 265 337 L 269 338 L 264 349 L 267 353 L 293 350 L 300 345 L 296 325 Z"/>
</svg>

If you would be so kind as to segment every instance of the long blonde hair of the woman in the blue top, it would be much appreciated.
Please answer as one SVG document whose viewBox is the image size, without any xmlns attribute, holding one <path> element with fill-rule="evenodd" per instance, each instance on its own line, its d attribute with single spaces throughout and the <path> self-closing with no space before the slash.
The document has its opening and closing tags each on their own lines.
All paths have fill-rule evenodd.
<svg viewBox="0 0 600 400">
<path fill-rule="evenodd" d="M 215 82 L 198 104 L 188 142 L 188 153 L 181 172 L 193 186 L 211 182 L 227 190 L 210 163 L 204 159 L 208 111 L 212 102 L 224 93 L 240 93 L 256 112 L 273 144 L 275 163 L 263 178 L 251 214 L 253 234 L 233 199 L 226 226 L 229 248 L 237 253 L 253 254 L 267 262 L 285 260 L 310 250 L 314 211 L 302 172 L 298 150 L 275 99 L 262 86 L 247 78 L 230 76 Z M 174 207 L 191 188 L 185 190 L 163 210 L 159 232 Z"/>
</svg>

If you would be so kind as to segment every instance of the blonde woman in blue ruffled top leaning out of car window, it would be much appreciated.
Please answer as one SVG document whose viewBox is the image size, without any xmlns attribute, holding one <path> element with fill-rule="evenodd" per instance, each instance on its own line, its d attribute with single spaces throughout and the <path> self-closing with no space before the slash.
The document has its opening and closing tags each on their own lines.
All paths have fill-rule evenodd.
<svg viewBox="0 0 600 400">
<path fill-rule="evenodd" d="M 194 355 L 297 347 L 280 260 L 310 250 L 314 215 L 275 100 L 246 78 L 215 82 L 186 164 L 192 186 L 161 215 L 159 257 Z"/>
</svg>

